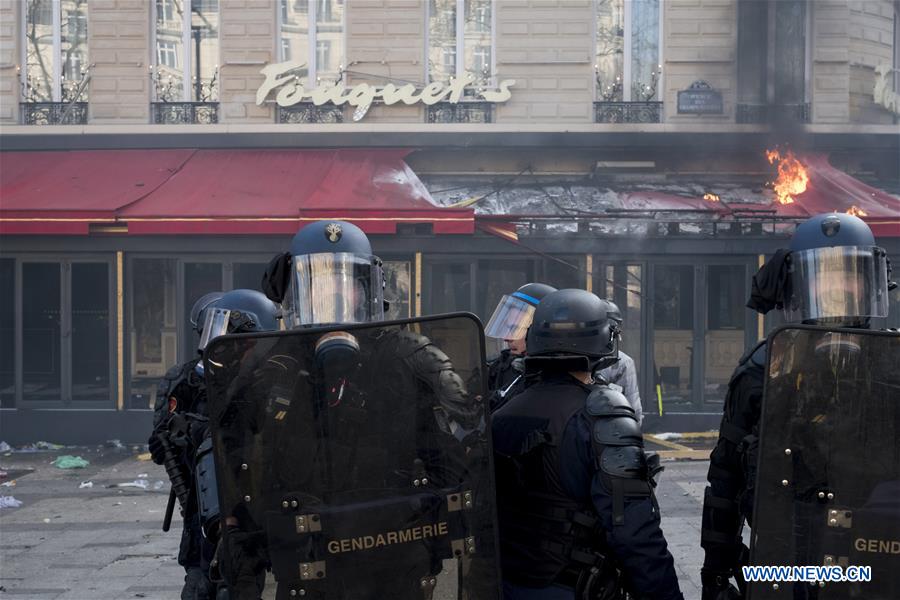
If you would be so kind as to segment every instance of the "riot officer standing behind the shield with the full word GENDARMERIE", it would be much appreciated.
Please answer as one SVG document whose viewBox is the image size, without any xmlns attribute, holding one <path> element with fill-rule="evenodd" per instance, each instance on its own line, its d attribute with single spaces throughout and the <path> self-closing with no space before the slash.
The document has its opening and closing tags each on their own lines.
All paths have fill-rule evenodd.
<svg viewBox="0 0 900 600">
<path fill-rule="evenodd" d="M 316 590 L 316 597 L 346 599 L 419 598 L 442 570 L 440 561 L 423 555 L 420 545 L 396 545 L 391 550 L 402 554 L 408 548 L 408 558 L 380 563 L 377 571 L 361 559 L 352 578 L 329 575 L 317 582 L 304 577 L 294 583 L 300 576 L 297 562 L 290 563 L 296 549 L 272 549 L 285 542 L 272 526 L 267 506 L 290 511 L 297 502 L 339 504 L 346 514 L 344 527 L 350 527 L 361 518 L 354 514 L 360 510 L 354 499 L 367 490 L 385 489 L 390 482 L 379 492 L 390 501 L 391 494 L 413 480 L 416 486 L 438 487 L 458 482 L 460 465 L 477 452 L 478 444 L 465 440 L 479 437 L 483 410 L 449 358 L 428 338 L 402 328 L 333 330 L 335 325 L 382 321 L 383 288 L 381 259 L 365 233 L 343 221 L 303 227 L 290 251 L 276 256 L 266 269 L 263 289 L 281 302 L 287 328 L 312 331 L 261 341 L 255 348 L 260 353 L 241 360 L 242 373 L 223 384 L 222 414 L 213 424 L 215 443 L 221 443 L 228 465 L 242 465 L 231 469 L 237 473 L 232 479 L 258 473 L 240 494 L 223 499 L 228 528 L 223 574 L 238 598 L 259 596 L 262 590 L 254 582 L 265 568 L 275 575 L 279 594 L 288 593 L 282 586 L 302 583 Z M 332 327 L 322 334 L 314 329 L 323 326 Z M 308 344 L 308 339 L 315 341 Z M 235 389 L 248 390 L 250 401 L 230 402 Z M 386 428 L 393 432 L 390 447 L 377 435 Z M 419 458 L 398 462 L 410 454 Z M 261 464 L 254 461 L 259 455 L 264 457 Z M 347 488 L 352 493 L 343 491 Z M 282 501 L 287 493 L 293 494 L 291 499 Z M 367 533 L 408 527 L 408 520 L 381 522 L 385 517 L 374 514 L 366 519 Z M 329 573 L 337 568 L 331 565 Z"/>
</svg>

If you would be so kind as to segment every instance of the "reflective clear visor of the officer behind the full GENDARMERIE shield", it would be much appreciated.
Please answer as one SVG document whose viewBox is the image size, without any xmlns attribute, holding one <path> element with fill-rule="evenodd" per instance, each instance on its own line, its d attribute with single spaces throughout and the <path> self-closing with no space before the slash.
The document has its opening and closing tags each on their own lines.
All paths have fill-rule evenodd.
<svg viewBox="0 0 900 600">
<path fill-rule="evenodd" d="M 381 261 L 359 254 L 304 254 L 291 259 L 282 304 L 290 328 L 384 319 Z"/>
</svg>

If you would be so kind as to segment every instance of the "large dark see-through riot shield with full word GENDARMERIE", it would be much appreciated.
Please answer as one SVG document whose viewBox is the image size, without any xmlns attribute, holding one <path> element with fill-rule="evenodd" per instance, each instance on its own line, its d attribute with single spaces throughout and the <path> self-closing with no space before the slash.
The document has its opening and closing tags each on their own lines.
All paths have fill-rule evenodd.
<svg viewBox="0 0 900 600">
<path fill-rule="evenodd" d="M 499 597 L 473 315 L 223 336 L 205 361 L 238 570 L 277 598 Z"/>
</svg>

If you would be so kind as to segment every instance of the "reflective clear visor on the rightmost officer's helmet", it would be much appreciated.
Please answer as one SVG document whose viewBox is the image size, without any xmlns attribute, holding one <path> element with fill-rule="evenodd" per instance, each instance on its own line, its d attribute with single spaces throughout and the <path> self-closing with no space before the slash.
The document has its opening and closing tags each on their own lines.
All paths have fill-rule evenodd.
<svg viewBox="0 0 900 600">
<path fill-rule="evenodd" d="M 885 317 L 887 255 L 876 246 L 836 246 L 792 252 L 788 322 Z"/>
</svg>

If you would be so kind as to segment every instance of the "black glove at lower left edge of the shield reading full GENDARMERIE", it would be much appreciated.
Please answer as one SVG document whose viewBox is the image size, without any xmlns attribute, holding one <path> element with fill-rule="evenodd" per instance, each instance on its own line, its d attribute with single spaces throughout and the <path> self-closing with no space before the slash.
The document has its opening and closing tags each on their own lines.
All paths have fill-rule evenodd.
<svg viewBox="0 0 900 600">
<path fill-rule="evenodd" d="M 231 600 L 258 600 L 265 585 L 266 560 L 258 533 L 229 526 L 216 559 Z"/>
</svg>

